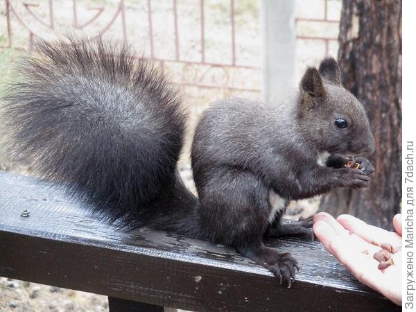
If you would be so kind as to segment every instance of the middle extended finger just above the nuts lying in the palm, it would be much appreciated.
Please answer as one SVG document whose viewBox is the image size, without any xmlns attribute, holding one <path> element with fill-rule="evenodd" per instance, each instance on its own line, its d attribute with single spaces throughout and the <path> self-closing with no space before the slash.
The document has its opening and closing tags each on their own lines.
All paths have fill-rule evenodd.
<svg viewBox="0 0 416 312">
<path fill-rule="evenodd" d="M 378 246 L 382 243 L 388 243 L 392 245 L 395 250 L 398 250 L 401 247 L 401 236 L 397 233 L 388 232 L 380 227 L 368 225 L 363 220 L 348 214 L 338 216 L 337 220 L 345 227 L 345 229 L 360 236 L 368 243 Z"/>
</svg>

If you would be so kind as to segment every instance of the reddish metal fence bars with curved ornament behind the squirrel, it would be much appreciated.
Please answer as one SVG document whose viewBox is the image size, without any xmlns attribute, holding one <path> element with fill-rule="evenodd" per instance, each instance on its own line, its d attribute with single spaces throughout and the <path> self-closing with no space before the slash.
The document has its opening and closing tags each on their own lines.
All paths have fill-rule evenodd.
<svg viewBox="0 0 416 312">
<path fill-rule="evenodd" d="M 224 0 L 229 1 L 229 17 L 230 17 L 230 26 L 231 26 L 231 32 L 230 32 L 230 40 L 231 40 L 231 60 L 224 60 L 221 62 L 209 62 L 207 61 L 207 42 L 206 42 L 206 12 L 205 12 L 205 6 L 208 5 L 205 0 L 199 1 L 199 14 L 200 14 L 200 61 L 195 60 L 187 60 L 184 58 L 184 56 L 181 53 L 181 42 L 180 42 L 180 29 L 179 29 L 179 20 L 181 18 L 179 12 L 178 12 L 178 1 L 173 0 L 173 8 L 172 8 L 172 14 L 173 14 L 173 27 L 174 27 L 174 46 L 175 50 L 173 51 L 173 58 L 165 58 L 159 56 L 159 53 L 155 51 L 155 33 L 153 28 L 153 11 L 152 11 L 152 0 L 147 0 L 147 23 L 148 23 L 148 44 L 149 46 L 149 53 L 150 58 L 153 58 L 159 64 L 161 64 L 162 69 L 164 69 L 165 65 L 168 62 L 175 62 L 175 64 L 182 64 L 182 66 L 185 67 L 195 67 L 196 73 L 193 80 L 182 80 L 180 83 L 183 85 L 193 85 L 196 87 L 224 87 L 227 89 L 232 90 L 245 90 L 250 92 L 258 92 L 259 88 L 242 88 L 242 87 L 236 87 L 233 85 L 230 85 L 230 79 L 229 79 L 229 69 L 250 69 L 253 71 L 256 71 L 256 74 L 259 74 L 259 66 L 254 65 L 247 65 L 247 64 L 240 64 L 239 58 L 237 55 L 237 47 L 236 47 L 236 33 L 238 31 L 238 27 L 236 24 L 236 4 L 238 2 L 234 0 Z M 42 38 L 42 33 L 39 33 L 37 31 L 37 28 L 33 28 L 32 24 L 28 23 L 26 19 L 23 19 L 21 17 L 21 14 L 16 10 L 15 3 L 13 3 L 12 0 L 4 0 L 5 6 L 6 6 L 6 28 L 7 28 L 7 43 L 4 45 L 0 45 L 0 48 L 10 48 L 12 46 L 12 15 L 15 17 L 17 22 L 21 24 L 26 30 L 28 31 L 29 35 L 29 42 L 28 47 L 31 49 L 33 40 L 36 37 Z M 24 8 L 28 11 L 28 13 L 35 19 L 35 21 L 40 22 L 43 26 L 46 27 L 46 29 L 49 29 L 51 33 L 55 32 L 55 23 L 54 23 L 54 6 L 53 6 L 53 0 L 49 0 L 49 18 L 48 21 L 44 21 L 42 18 L 40 18 L 39 15 L 35 14 L 33 10 L 31 9 L 33 6 L 38 6 L 36 3 L 22 3 Z M 328 18 L 328 0 L 323 1 L 324 4 L 324 17 L 322 19 L 319 18 L 296 18 L 297 22 L 306 21 L 310 23 L 320 22 L 325 24 L 338 24 L 338 20 L 329 19 Z M 87 26 L 92 25 L 94 21 L 97 21 L 98 18 L 103 16 L 103 13 L 107 8 L 105 8 L 105 5 L 103 6 L 96 6 L 96 7 L 88 7 L 87 10 L 96 11 L 96 13 L 87 21 L 80 24 L 80 19 L 78 18 L 78 1 L 72 0 L 72 9 L 73 9 L 73 28 L 76 30 L 82 31 L 87 28 Z M 126 32 L 126 20 L 125 20 L 125 0 L 119 0 L 118 6 L 116 7 L 116 10 L 114 12 L 114 15 L 112 15 L 110 21 L 103 26 L 99 31 L 96 32 L 96 35 L 92 37 L 92 40 L 94 40 L 96 37 L 102 36 L 104 33 L 109 31 L 109 29 L 112 27 L 116 19 L 121 19 L 121 28 L 122 28 L 122 35 L 123 39 L 128 40 L 128 35 Z M 336 41 L 336 37 L 324 37 L 322 35 L 308 35 L 308 34 L 299 34 L 297 35 L 297 40 L 318 40 L 322 41 L 325 44 L 325 51 L 326 53 L 329 53 L 329 43 L 331 41 Z M 13 47 L 13 49 L 19 49 L 18 47 Z M 198 67 L 204 67 L 202 69 L 198 69 Z M 206 69 L 205 67 L 208 67 Z M 223 71 L 225 75 L 225 83 L 219 83 L 216 85 L 215 83 L 207 83 L 204 81 L 204 78 L 208 76 L 208 72 L 212 69 L 220 69 Z"/>
</svg>

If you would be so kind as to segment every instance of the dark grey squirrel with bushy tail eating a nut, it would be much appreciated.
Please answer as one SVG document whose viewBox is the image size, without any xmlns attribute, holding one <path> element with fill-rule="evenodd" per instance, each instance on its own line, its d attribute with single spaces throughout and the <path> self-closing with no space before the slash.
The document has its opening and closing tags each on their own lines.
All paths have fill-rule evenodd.
<svg viewBox="0 0 416 312">
<path fill-rule="evenodd" d="M 263 237 L 313 239 L 313 219 L 283 223 L 291 200 L 367 187 L 374 137 L 336 60 L 306 69 L 284 105 L 232 98 L 203 114 L 191 147 L 198 198 L 177 171 L 186 113 L 178 89 L 123 45 L 38 42 L 3 95 L 12 153 L 103 220 L 231 245 L 291 286 L 297 261 Z"/>
</svg>

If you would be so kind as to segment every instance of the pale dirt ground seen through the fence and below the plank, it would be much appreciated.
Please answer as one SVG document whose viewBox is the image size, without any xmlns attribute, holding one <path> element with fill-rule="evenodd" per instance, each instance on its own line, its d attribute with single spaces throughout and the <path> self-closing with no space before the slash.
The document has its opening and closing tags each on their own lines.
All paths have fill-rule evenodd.
<svg viewBox="0 0 416 312">
<path fill-rule="evenodd" d="M 31 24 L 31 17 L 28 12 L 23 10 L 23 0 L 12 1 L 21 13 L 21 17 L 28 22 L 29 26 L 33 26 L 36 31 L 42 32 L 42 24 Z M 47 1 L 39 1 L 40 6 L 34 8 L 35 12 L 42 18 L 47 17 Z M 69 23 L 69 15 L 72 12 L 72 1 L 55 0 L 54 7 L 56 10 L 55 26 L 65 29 Z M 97 5 L 106 7 L 105 13 L 108 17 L 116 10 L 119 1 L 116 0 L 89 0 L 78 1 L 79 7 L 78 19 L 82 22 L 91 16 L 88 8 L 94 8 Z M 187 60 L 198 60 L 200 52 L 198 42 L 199 31 L 195 31 L 195 23 L 200 23 L 199 8 L 196 3 L 199 1 L 179 0 L 178 15 L 180 17 L 180 29 L 187 29 L 180 33 L 180 42 L 182 44 L 181 57 Z M 207 58 L 211 62 L 221 62 L 224 58 L 230 57 L 229 41 L 223 33 L 229 33 L 229 6 L 227 0 L 209 0 L 205 1 L 205 14 L 207 16 Z M 340 0 L 329 0 L 328 17 L 329 19 L 338 19 L 340 15 Z M 138 53 L 149 53 L 149 47 L 146 44 L 137 44 L 137 42 L 146 42 L 147 19 L 144 12 L 147 10 L 147 1 L 145 0 L 127 0 L 126 4 L 126 21 L 127 34 L 129 40 L 134 43 Z M 174 51 L 173 42 L 171 40 L 173 33 L 169 28 L 166 33 L 164 25 L 173 22 L 173 17 L 169 13 L 172 10 L 172 1 L 153 1 L 154 13 L 154 31 L 155 31 L 155 51 L 158 58 L 170 58 Z M 296 0 L 296 16 L 306 18 L 322 18 L 323 17 L 323 0 Z M 108 20 L 108 19 L 107 19 Z M 97 21 L 89 28 L 94 33 L 97 29 L 103 27 L 103 21 Z M 27 46 L 27 31 L 19 25 L 15 17 L 12 17 L 13 24 L 13 44 L 15 46 Z M 251 66 L 259 66 L 260 29 L 259 29 L 259 1 L 256 0 L 239 0 L 236 1 L 236 31 L 237 42 L 237 61 L 240 64 Z M 170 33 L 169 33 L 170 32 Z M 328 28 L 323 24 L 297 24 L 297 32 L 302 35 L 338 35 L 338 26 Z M 120 25 L 114 24 L 112 31 L 108 37 L 117 37 L 120 33 Z M 0 8 L 0 44 L 6 42 L 6 18 L 4 15 L 4 6 Z M 329 53 L 336 55 L 338 45 L 333 42 L 329 46 Z M 298 42 L 296 55 L 296 73 L 299 77 L 306 68 L 306 65 L 317 64 L 324 53 L 322 42 L 313 42 L 303 40 Z M 18 59 L 18 53 L 12 49 L 0 49 L 0 86 L 1 83 L 7 82 L 11 76 L 10 64 L 11 60 Z M 171 67 L 170 74 L 180 77 L 189 74 L 189 68 Z M 234 85 L 244 85 L 245 87 L 253 87 L 260 89 L 261 72 L 256 70 L 245 71 L 229 71 L 229 83 Z M 216 79 L 221 79 L 216 77 Z M 0 87 L 1 92 L 1 87 Z M 207 105 L 218 98 L 227 98 L 229 96 L 241 96 L 259 100 L 260 92 L 233 92 L 226 88 L 206 89 L 199 87 L 184 87 L 184 103 L 189 108 L 189 130 L 187 136 L 186 148 L 184 155 L 180 161 L 180 173 L 184 178 L 187 186 L 195 191 L 189 166 L 189 146 L 193 128 L 198 118 L 205 110 Z M 1 113 L 1 112 L 0 112 Z M 3 137 L 3 140 L 7 138 Z M 0 170 L 14 171 L 17 173 L 31 174 L 31 164 L 27 164 L 24 159 L 19 162 L 11 162 L 10 158 L 4 150 L 1 150 L 1 133 L 0 133 Z M 288 218 L 297 219 L 299 216 L 309 216 L 318 209 L 318 199 L 303 200 L 295 202 L 288 209 Z M 1 252 L 1 251 L 0 251 Z M 0 311 L 21 311 L 21 312 L 40 312 L 40 311 L 108 311 L 107 297 L 80 291 L 72 291 L 64 288 L 46 286 L 41 284 L 29 283 L 26 281 L 17 281 L 0 277 Z"/>
</svg>

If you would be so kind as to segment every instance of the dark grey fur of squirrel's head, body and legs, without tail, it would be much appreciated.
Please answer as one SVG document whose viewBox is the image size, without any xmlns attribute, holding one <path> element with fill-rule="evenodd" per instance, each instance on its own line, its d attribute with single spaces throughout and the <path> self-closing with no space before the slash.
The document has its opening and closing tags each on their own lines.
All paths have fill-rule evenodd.
<svg viewBox="0 0 416 312">
<path fill-rule="evenodd" d="M 297 262 L 266 248 L 263 235 L 311 238 L 311 218 L 281 223 L 288 202 L 336 187 L 367 187 L 374 172 L 367 159 L 359 160 L 365 171 L 344 166 L 342 155 L 372 153 L 374 138 L 361 103 L 336 83 L 338 64 L 327 64 L 336 61 L 324 60 L 322 71 L 307 69 L 300 92 L 284 105 L 240 98 L 215 103 L 202 115 L 193 140 L 202 229 L 211 241 L 233 245 L 289 285 Z M 336 128 L 337 118 L 347 119 L 349 127 Z M 324 151 L 332 155 L 320 166 Z M 270 191 L 284 200 L 271 223 Z"/>
</svg>

